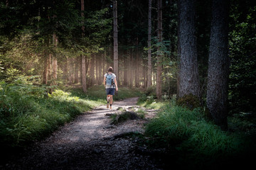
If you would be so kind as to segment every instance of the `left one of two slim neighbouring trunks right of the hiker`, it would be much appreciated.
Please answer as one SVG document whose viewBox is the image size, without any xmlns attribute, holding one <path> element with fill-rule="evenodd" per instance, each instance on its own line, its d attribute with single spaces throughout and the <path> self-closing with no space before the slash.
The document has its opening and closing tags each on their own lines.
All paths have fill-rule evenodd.
<svg viewBox="0 0 256 170">
<path fill-rule="evenodd" d="M 147 84 L 148 89 L 152 85 L 152 62 L 151 62 L 151 8 L 152 0 L 149 0 L 149 32 L 148 32 L 148 69 L 147 69 Z"/>
</svg>

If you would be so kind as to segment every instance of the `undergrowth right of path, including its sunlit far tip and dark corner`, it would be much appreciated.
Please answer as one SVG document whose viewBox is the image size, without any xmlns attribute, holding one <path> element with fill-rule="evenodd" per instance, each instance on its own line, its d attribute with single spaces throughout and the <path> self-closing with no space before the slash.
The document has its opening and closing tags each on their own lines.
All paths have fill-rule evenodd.
<svg viewBox="0 0 256 170">
<path fill-rule="evenodd" d="M 174 164 L 190 169 L 235 167 L 245 160 L 250 162 L 256 154 L 256 128 L 247 118 L 250 115 L 229 116 L 229 130 L 223 131 L 206 116 L 203 108 L 190 110 L 178 106 L 176 96 L 169 101 L 157 101 L 154 96 L 143 94 L 138 104 L 159 109 L 156 117 L 146 124 L 138 144 L 153 150 L 165 149 L 157 157 L 164 160 L 166 169 Z"/>
</svg>

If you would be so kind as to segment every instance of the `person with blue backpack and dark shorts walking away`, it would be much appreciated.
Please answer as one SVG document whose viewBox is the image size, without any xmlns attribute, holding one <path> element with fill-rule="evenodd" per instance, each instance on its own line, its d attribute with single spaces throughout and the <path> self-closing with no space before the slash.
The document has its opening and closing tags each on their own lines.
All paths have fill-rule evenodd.
<svg viewBox="0 0 256 170">
<path fill-rule="evenodd" d="M 109 67 L 104 75 L 103 84 L 107 93 L 107 108 L 112 109 L 114 91 L 118 91 L 116 75 L 113 73 L 113 68 Z"/>
</svg>

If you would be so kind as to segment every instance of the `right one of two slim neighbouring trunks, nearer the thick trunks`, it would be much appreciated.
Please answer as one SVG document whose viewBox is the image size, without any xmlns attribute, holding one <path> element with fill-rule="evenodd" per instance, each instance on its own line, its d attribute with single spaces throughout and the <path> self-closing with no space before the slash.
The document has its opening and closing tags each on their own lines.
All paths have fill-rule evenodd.
<svg viewBox="0 0 256 170">
<path fill-rule="evenodd" d="M 162 1 L 157 1 L 157 39 L 159 44 L 162 42 Z M 157 66 L 156 66 L 156 97 L 161 99 L 161 48 L 157 47 Z"/>
</svg>

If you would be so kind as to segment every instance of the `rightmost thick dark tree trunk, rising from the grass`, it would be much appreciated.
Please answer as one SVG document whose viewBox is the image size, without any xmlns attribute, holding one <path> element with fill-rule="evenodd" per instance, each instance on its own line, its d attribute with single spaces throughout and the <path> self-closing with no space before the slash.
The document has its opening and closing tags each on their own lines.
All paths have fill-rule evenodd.
<svg viewBox="0 0 256 170">
<path fill-rule="evenodd" d="M 228 0 L 213 0 L 208 59 L 207 106 L 221 128 L 228 128 Z"/>
</svg>

